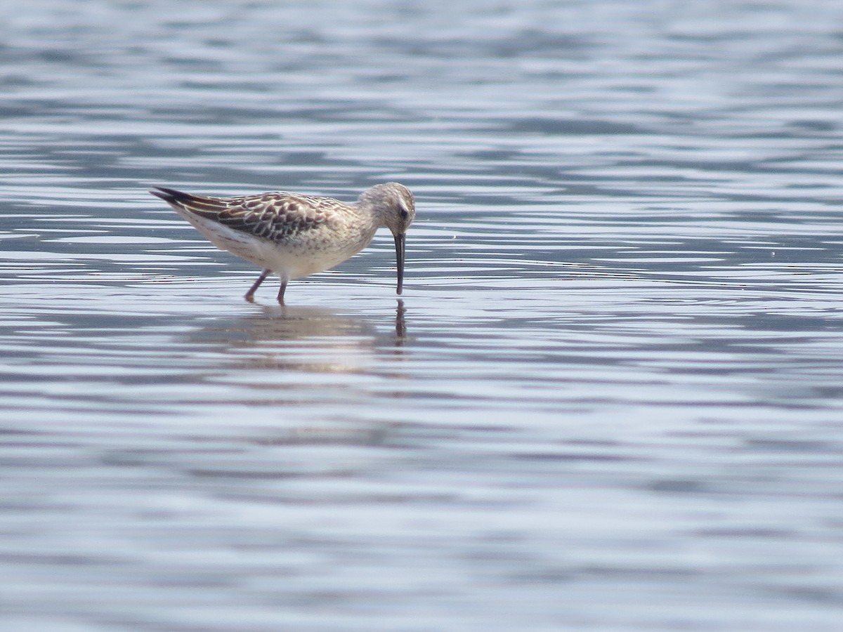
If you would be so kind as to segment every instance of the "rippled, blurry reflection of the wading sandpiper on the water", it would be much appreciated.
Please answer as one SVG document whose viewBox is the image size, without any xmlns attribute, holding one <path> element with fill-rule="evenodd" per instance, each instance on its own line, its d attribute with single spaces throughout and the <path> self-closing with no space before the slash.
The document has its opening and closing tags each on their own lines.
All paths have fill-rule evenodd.
<svg viewBox="0 0 843 632">
<path fill-rule="evenodd" d="M 254 411 L 240 423 L 261 426 L 256 437 L 247 434 L 262 446 L 380 445 L 396 421 L 370 419 L 371 406 L 387 393 L 403 399 L 410 383 L 405 313 L 398 299 L 394 327 L 299 306 L 217 319 L 188 340 L 201 362 L 192 378 L 218 386 L 218 404 Z M 320 467 L 348 467 L 345 459 L 330 463 Z M 286 472 L 289 464 L 272 467 Z"/>
</svg>

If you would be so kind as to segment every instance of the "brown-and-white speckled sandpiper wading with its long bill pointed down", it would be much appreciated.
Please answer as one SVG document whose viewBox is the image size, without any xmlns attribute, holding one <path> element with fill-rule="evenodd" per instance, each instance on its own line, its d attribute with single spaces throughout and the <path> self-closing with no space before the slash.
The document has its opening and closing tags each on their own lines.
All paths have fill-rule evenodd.
<svg viewBox="0 0 843 632">
<path fill-rule="evenodd" d="M 234 253 L 263 272 L 246 292 L 255 291 L 273 272 L 281 277 L 278 303 L 284 304 L 287 281 L 328 270 L 357 254 L 385 226 L 395 238 L 398 287 L 404 287 L 404 244 L 416 217 L 413 194 L 404 185 L 387 182 L 360 195 L 357 202 L 283 191 L 211 197 L 182 193 L 163 186 L 158 195 L 194 228 L 223 250 Z"/>
</svg>

